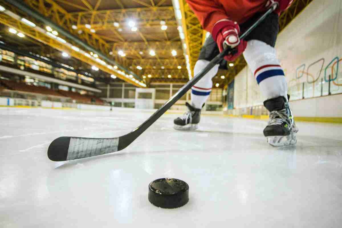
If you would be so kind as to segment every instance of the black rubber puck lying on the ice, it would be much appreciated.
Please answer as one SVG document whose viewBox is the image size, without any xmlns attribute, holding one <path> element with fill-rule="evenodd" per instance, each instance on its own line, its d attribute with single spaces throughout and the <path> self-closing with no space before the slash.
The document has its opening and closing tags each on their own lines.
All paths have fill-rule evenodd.
<svg viewBox="0 0 342 228">
<path fill-rule="evenodd" d="M 189 185 L 174 178 L 156 179 L 148 185 L 148 201 L 162 208 L 176 208 L 189 201 Z"/>
</svg>

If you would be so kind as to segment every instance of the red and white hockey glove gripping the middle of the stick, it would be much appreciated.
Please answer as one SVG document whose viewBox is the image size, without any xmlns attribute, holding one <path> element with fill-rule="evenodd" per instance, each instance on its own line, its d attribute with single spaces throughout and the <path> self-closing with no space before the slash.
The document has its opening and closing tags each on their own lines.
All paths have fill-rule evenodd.
<svg viewBox="0 0 342 228">
<path fill-rule="evenodd" d="M 239 39 L 239 33 L 239 25 L 229 19 L 222 19 L 213 27 L 212 37 L 219 46 L 220 52 L 227 46 L 236 49 L 234 54 L 224 57 L 227 61 L 234 61 L 246 49 L 247 42 Z"/>
</svg>

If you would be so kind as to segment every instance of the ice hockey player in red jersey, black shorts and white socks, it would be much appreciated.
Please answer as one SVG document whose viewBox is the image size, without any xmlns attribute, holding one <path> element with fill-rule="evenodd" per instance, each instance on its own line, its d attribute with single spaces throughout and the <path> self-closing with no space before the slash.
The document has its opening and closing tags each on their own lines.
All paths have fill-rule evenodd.
<svg viewBox="0 0 342 228">
<path fill-rule="evenodd" d="M 201 108 L 211 92 L 212 78 L 219 68 L 227 69 L 226 61 L 234 61 L 243 53 L 265 98 L 264 106 L 270 112 L 268 124 L 264 129 L 267 142 L 273 146 L 297 143 L 295 134 L 298 128 L 288 104 L 287 82 L 274 49 L 279 30 L 279 15 L 289 8 L 292 1 L 187 0 L 203 29 L 211 34 L 201 49 L 194 75 L 206 67 L 225 47 L 235 48 L 237 52 L 225 56 L 224 61 L 214 66 L 192 87 L 191 104 L 186 103 L 189 111 L 174 120 L 176 130 L 197 129 Z M 240 32 L 247 30 L 274 2 L 278 3 L 277 9 L 244 40 L 239 40 Z"/>
</svg>

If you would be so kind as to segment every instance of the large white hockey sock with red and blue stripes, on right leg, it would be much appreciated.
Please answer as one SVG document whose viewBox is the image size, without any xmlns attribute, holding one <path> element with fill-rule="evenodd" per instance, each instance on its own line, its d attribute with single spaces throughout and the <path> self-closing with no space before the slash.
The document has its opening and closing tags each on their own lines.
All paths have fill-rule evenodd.
<svg viewBox="0 0 342 228">
<path fill-rule="evenodd" d="M 287 82 L 275 49 L 262 41 L 250 40 L 244 57 L 265 100 L 279 96 L 287 100 Z"/>
</svg>

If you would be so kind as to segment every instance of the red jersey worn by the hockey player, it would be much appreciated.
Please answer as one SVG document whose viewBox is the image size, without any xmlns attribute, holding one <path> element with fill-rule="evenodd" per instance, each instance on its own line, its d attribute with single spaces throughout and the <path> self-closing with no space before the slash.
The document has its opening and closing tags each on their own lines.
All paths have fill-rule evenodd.
<svg viewBox="0 0 342 228">
<path fill-rule="evenodd" d="M 212 32 L 221 19 L 244 23 L 257 12 L 266 11 L 267 0 L 186 0 L 203 29 Z"/>
</svg>

